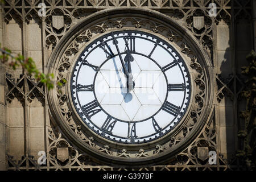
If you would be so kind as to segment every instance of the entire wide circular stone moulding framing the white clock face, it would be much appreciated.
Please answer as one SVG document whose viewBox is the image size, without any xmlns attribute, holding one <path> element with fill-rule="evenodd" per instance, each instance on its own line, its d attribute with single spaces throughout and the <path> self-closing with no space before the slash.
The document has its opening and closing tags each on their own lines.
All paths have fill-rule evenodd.
<svg viewBox="0 0 256 182">
<path fill-rule="evenodd" d="M 125 29 L 151 32 L 167 40 L 188 64 L 192 81 L 192 102 L 183 121 L 174 132 L 147 145 L 116 146 L 86 130 L 73 112 L 69 98 L 69 78 L 81 49 L 106 32 Z M 59 88 L 61 92 L 47 90 L 51 118 L 76 147 L 106 164 L 134 166 L 170 159 L 191 144 L 213 114 L 213 69 L 207 52 L 189 30 L 158 11 L 117 8 L 87 16 L 60 39 L 49 57 L 47 68 L 57 80 L 67 80 L 67 84 Z"/>
</svg>

